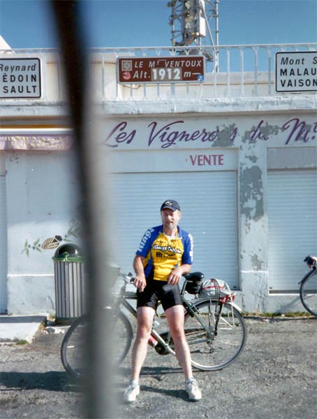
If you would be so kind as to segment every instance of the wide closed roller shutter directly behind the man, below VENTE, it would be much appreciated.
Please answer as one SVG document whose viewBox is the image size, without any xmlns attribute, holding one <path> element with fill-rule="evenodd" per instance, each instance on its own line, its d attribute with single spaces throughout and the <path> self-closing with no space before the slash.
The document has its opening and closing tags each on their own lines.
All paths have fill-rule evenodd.
<svg viewBox="0 0 317 419">
<path fill-rule="evenodd" d="M 237 175 L 235 171 L 121 173 L 112 175 L 114 262 L 132 271 L 135 250 L 147 228 L 161 223 L 160 206 L 175 199 L 179 223 L 193 235 L 194 270 L 238 288 Z"/>
</svg>

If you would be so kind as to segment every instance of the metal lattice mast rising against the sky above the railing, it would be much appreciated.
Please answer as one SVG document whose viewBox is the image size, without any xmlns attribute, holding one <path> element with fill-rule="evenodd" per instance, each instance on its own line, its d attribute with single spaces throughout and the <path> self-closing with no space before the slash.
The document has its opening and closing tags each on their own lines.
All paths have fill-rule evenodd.
<svg viewBox="0 0 317 419">
<path fill-rule="evenodd" d="M 203 45 L 219 45 L 218 27 L 219 0 L 171 0 L 170 25 L 172 45 L 196 45 L 209 61 L 214 61 L 214 71 L 219 71 L 218 52 L 213 55 L 203 49 Z M 213 31 L 210 29 L 213 24 Z M 212 35 L 214 32 L 214 36 Z"/>
</svg>

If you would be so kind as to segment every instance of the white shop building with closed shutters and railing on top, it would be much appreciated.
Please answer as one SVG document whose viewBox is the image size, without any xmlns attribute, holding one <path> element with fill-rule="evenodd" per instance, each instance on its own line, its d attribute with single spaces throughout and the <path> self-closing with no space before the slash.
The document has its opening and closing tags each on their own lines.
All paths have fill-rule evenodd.
<svg viewBox="0 0 317 419">
<path fill-rule="evenodd" d="M 99 124 L 91 140 L 114 186 L 113 258 L 122 272 L 172 198 L 194 237 L 193 270 L 228 281 L 246 311 L 303 311 L 302 260 L 317 251 L 316 46 L 239 46 L 245 66 L 254 55 L 252 71 L 233 73 L 228 60 L 225 72 L 209 73 L 207 64 L 199 83 L 117 82 L 116 57 L 154 62 L 169 50 L 91 53 Z M 227 57 L 236 49 L 219 47 Z M 1 55 L 0 310 L 9 314 L 54 313 L 55 249 L 43 243 L 78 242 L 61 68 L 54 51 Z"/>
</svg>

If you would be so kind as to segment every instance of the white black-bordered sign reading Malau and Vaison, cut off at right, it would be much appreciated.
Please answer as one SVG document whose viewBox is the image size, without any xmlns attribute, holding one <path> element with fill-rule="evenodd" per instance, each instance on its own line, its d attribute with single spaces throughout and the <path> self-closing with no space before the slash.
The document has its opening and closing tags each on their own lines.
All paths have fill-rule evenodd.
<svg viewBox="0 0 317 419">
<path fill-rule="evenodd" d="M 277 52 L 275 91 L 317 91 L 317 51 Z"/>
</svg>

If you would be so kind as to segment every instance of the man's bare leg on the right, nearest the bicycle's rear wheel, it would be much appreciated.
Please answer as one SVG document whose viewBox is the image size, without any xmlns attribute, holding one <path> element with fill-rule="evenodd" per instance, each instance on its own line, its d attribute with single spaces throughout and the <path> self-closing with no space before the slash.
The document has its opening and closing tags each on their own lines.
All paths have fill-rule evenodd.
<svg viewBox="0 0 317 419">
<path fill-rule="evenodd" d="M 176 305 L 165 311 L 170 334 L 174 341 L 177 360 L 184 371 L 185 380 L 193 376 L 191 369 L 191 353 L 184 332 L 184 307 Z"/>
</svg>

